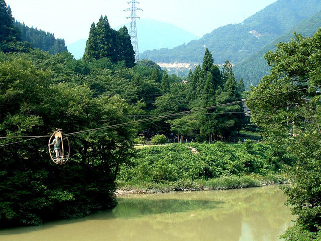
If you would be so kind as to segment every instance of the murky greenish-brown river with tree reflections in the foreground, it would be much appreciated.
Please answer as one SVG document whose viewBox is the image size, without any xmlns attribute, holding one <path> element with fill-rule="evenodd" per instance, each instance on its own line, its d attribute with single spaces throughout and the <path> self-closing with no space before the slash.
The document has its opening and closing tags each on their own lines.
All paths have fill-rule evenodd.
<svg viewBox="0 0 321 241">
<path fill-rule="evenodd" d="M 0 229 L 0 240 L 278 240 L 294 217 L 279 186 L 128 195 L 112 211 L 37 227 Z"/>
</svg>

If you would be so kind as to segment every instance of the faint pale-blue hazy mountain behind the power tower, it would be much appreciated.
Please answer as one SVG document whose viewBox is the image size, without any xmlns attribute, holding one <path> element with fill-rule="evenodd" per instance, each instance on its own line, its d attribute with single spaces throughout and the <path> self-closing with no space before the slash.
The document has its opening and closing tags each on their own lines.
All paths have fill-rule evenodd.
<svg viewBox="0 0 321 241">
<path fill-rule="evenodd" d="M 115 30 L 118 30 L 123 26 L 124 25 L 117 26 Z M 129 32 L 130 23 L 125 24 L 125 26 Z M 136 20 L 136 28 L 139 53 L 142 53 L 145 50 L 160 48 L 171 49 L 180 44 L 188 43 L 191 40 L 200 38 L 172 24 L 150 19 Z M 86 47 L 86 41 L 87 40 L 80 39 L 75 43 L 67 45 L 69 52 L 71 52 L 76 59 L 82 58 Z"/>
</svg>

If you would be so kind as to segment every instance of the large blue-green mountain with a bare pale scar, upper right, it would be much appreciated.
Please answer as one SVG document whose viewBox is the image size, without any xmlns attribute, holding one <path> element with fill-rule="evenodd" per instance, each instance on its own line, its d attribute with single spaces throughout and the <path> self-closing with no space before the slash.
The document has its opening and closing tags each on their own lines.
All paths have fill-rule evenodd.
<svg viewBox="0 0 321 241">
<path fill-rule="evenodd" d="M 320 0 L 278 0 L 240 24 L 220 27 L 199 40 L 171 50 L 145 51 L 140 58 L 157 63 L 201 63 L 208 48 L 217 64 L 225 60 L 233 64 L 241 63 L 320 10 Z"/>
</svg>

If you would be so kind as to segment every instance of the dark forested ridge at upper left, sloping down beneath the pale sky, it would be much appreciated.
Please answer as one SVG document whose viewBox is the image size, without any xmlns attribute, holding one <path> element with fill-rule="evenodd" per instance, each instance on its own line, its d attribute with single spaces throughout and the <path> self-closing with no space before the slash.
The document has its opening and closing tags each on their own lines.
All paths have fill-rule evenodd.
<svg viewBox="0 0 321 241">
<path fill-rule="evenodd" d="M 67 51 L 65 40 L 56 39 L 52 33 L 38 30 L 34 27 L 29 28 L 24 23 L 22 24 L 18 21 L 15 22 L 14 26 L 21 33 L 21 41 L 32 43 L 34 48 L 49 51 L 50 54 Z"/>
</svg>

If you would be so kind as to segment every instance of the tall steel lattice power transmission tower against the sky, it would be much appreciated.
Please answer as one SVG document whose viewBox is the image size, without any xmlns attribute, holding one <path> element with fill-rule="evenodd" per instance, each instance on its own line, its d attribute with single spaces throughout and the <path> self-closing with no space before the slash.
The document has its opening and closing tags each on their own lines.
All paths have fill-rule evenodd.
<svg viewBox="0 0 321 241">
<path fill-rule="evenodd" d="M 131 8 L 125 9 L 124 11 L 131 11 L 131 15 L 128 16 L 126 19 L 130 19 L 129 35 L 130 35 L 132 47 L 135 51 L 135 60 L 137 62 L 139 60 L 139 52 L 138 52 L 138 42 L 137 42 L 136 19 L 139 19 L 139 17 L 136 16 L 136 11 L 142 11 L 142 10 L 135 7 L 135 4 L 139 4 L 135 0 L 131 0 L 127 4 L 131 4 Z"/>
</svg>

